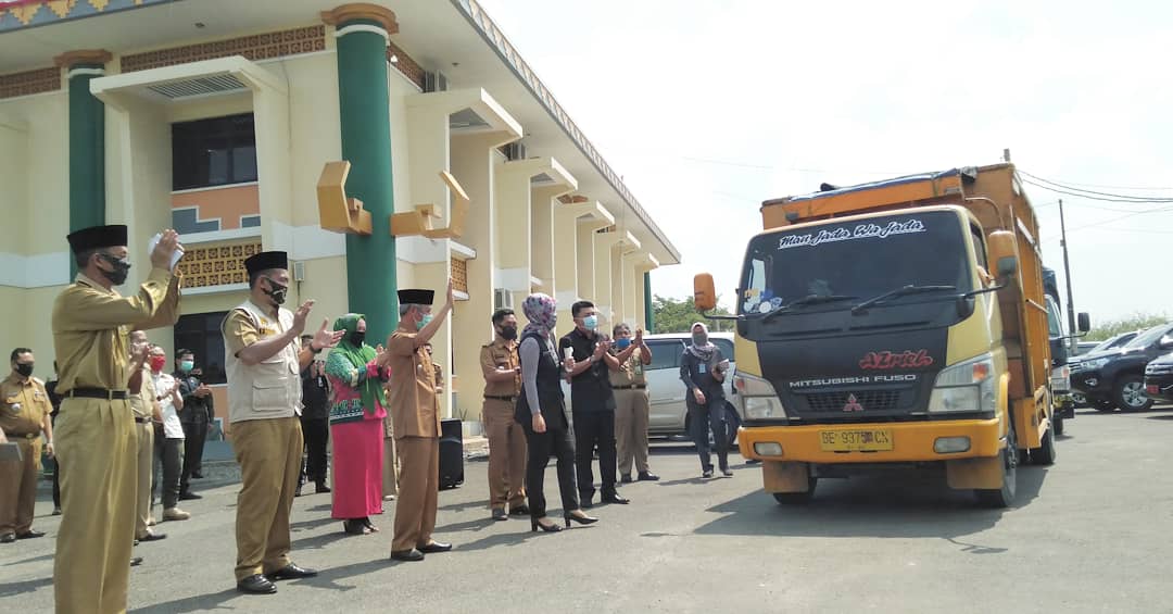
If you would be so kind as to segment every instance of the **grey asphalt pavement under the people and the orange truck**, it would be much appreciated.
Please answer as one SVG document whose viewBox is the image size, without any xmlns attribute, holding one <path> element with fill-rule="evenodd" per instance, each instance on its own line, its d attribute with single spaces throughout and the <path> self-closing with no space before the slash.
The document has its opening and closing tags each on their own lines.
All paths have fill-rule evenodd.
<svg viewBox="0 0 1173 614">
<path fill-rule="evenodd" d="M 1018 474 L 1010 510 L 977 507 L 942 477 L 825 480 L 805 506 L 760 490 L 760 470 L 701 480 L 692 447 L 656 443 L 663 479 L 622 488 L 628 506 L 555 534 L 494 522 L 484 461 L 440 493 L 447 554 L 391 562 L 393 502 L 380 533 L 346 537 L 330 495 L 293 511 L 293 559 L 318 578 L 276 595 L 233 588 L 235 472 L 197 480 L 192 519 L 163 522 L 131 573 L 135 612 L 1173 612 L 1173 410 L 1099 414 L 1066 425 L 1051 467 Z M 307 491 L 312 491 L 308 487 Z M 547 493 L 558 508 L 551 466 Z M 59 519 L 38 504 L 42 539 L 0 545 L 0 612 L 50 612 Z"/>
</svg>

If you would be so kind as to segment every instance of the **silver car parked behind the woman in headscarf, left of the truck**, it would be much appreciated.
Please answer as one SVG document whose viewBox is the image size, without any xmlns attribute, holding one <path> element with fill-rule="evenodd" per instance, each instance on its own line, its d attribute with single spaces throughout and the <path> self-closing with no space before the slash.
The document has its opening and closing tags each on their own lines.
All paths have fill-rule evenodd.
<svg viewBox="0 0 1173 614">
<path fill-rule="evenodd" d="M 647 396 L 651 400 L 651 416 L 647 419 L 647 433 L 651 436 L 677 436 L 689 433 L 689 409 L 684 403 L 684 383 L 680 382 L 680 356 L 689 345 L 692 335 L 663 333 L 645 337 L 647 348 L 652 351 L 652 364 L 647 365 Z M 738 419 L 737 404 L 732 403 L 733 377 L 737 370 L 737 357 L 733 355 L 733 333 L 712 332 L 708 335 L 725 358 L 730 360 L 730 376 L 725 378 L 726 399 L 734 407 L 733 416 Z M 728 420 L 726 420 L 728 421 Z M 737 425 L 728 425 L 732 436 L 737 434 Z M 733 437 L 730 438 L 733 441 Z"/>
</svg>

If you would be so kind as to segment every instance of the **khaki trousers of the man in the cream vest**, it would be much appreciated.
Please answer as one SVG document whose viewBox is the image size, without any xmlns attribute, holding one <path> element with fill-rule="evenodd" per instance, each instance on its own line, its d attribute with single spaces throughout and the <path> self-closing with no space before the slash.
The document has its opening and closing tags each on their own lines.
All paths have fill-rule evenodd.
<svg viewBox="0 0 1173 614">
<path fill-rule="evenodd" d="M 290 512 L 303 445 L 296 416 L 232 424 L 242 483 L 236 498 L 237 581 L 290 564 Z"/>
</svg>

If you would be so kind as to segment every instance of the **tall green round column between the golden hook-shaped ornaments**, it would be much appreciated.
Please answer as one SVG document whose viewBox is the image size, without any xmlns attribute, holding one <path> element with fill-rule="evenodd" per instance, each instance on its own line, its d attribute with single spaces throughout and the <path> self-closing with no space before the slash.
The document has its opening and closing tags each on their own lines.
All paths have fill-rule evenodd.
<svg viewBox="0 0 1173 614">
<path fill-rule="evenodd" d="M 354 19 L 337 25 L 382 25 Z M 394 210 L 391 177 L 391 119 L 387 102 L 387 39 L 355 29 L 338 39 L 338 100 L 343 160 L 351 162 L 346 193 L 371 211 L 371 236 L 346 236 L 346 282 L 351 311 L 366 313 L 367 338 L 386 339 L 399 325 Z"/>
</svg>

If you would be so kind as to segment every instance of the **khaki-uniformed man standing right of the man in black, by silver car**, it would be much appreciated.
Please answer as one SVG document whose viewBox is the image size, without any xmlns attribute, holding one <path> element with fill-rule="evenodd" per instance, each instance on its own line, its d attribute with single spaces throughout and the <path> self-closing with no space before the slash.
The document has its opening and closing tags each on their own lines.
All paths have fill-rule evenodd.
<svg viewBox="0 0 1173 614">
<path fill-rule="evenodd" d="M 647 468 L 647 378 L 644 369 L 652 364 L 652 351 L 644 343 L 644 331 L 637 331 L 631 339 L 626 324 L 615 326 L 615 345 L 611 353 L 619 367 L 610 371 L 611 389 L 615 392 L 615 448 L 619 464 L 619 480 L 631 483 L 631 464 L 639 472 L 638 480 L 656 481 Z"/>
</svg>

